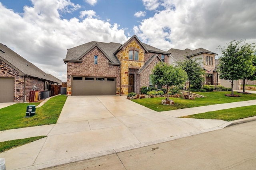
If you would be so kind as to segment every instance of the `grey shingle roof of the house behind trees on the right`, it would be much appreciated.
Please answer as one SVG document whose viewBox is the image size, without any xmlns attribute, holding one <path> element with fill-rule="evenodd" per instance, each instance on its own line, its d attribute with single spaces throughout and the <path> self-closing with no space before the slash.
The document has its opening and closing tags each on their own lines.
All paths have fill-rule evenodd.
<svg viewBox="0 0 256 170">
<path fill-rule="evenodd" d="M 174 59 L 176 59 L 176 61 L 186 60 L 189 57 L 192 57 L 192 56 L 195 56 L 195 55 L 200 55 L 200 54 L 203 54 L 203 53 L 218 55 L 216 53 L 213 53 L 212 51 L 208 51 L 208 50 L 203 49 L 203 48 L 199 48 L 199 49 L 195 49 L 195 50 L 191 50 L 191 49 L 185 49 L 185 50 L 169 49 L 167 52 L 171 53 L 170 55 Z"/>
</svg>

